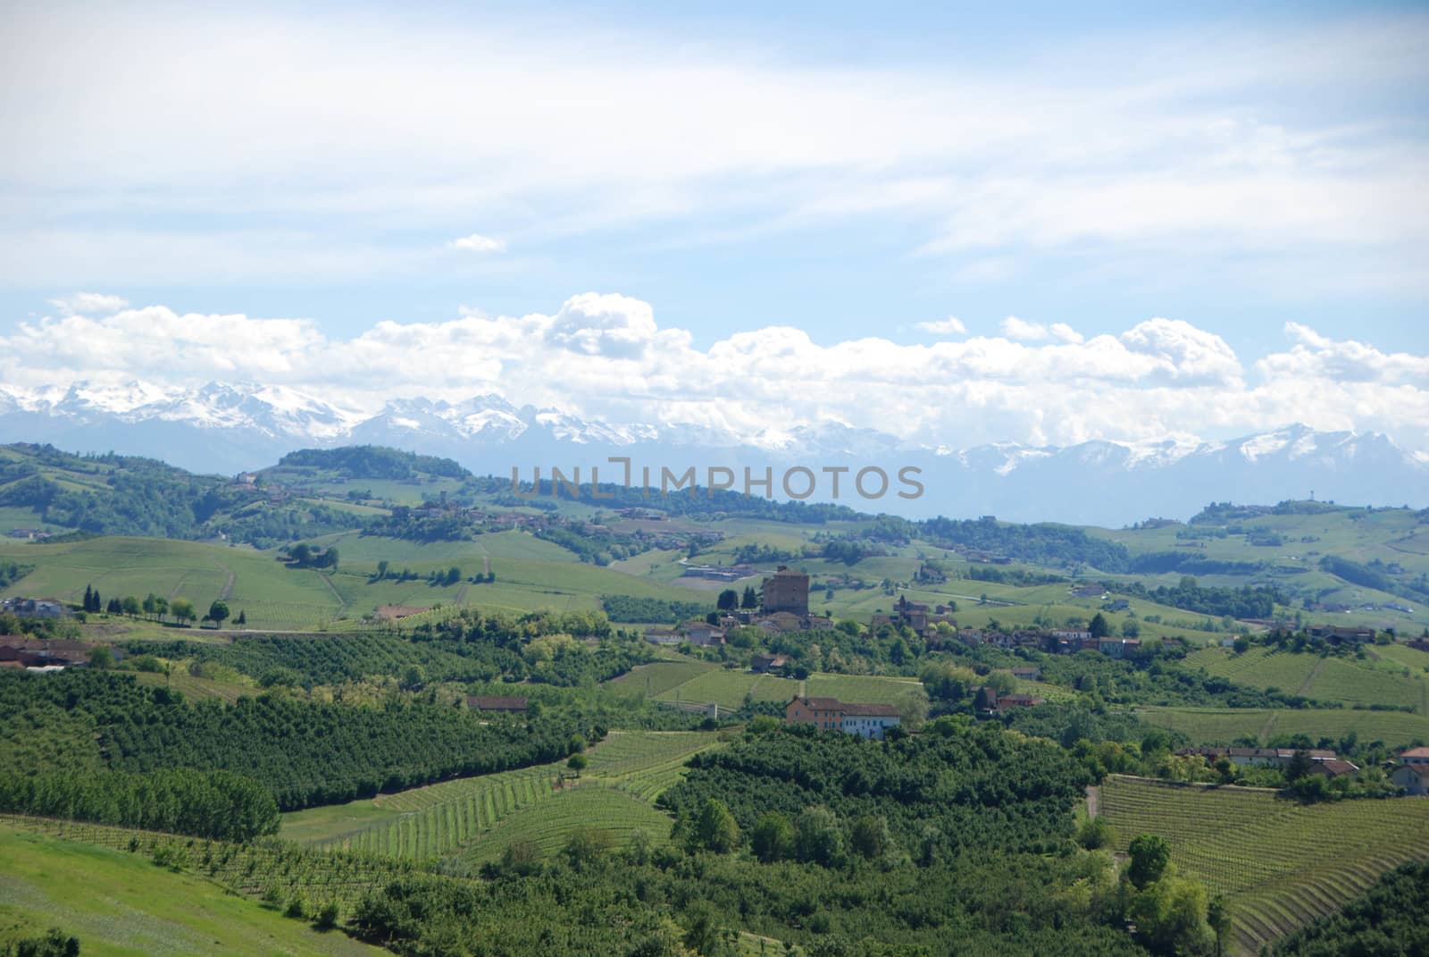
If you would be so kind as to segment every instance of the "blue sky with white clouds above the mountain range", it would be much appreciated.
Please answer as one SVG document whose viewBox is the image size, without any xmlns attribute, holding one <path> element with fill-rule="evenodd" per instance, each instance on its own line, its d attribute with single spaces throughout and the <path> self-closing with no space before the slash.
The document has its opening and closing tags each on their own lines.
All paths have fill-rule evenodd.
<svg viewBox="0 0 1429 957">
<path fill-rule="evenodd" d="M 0 385 L 1429 449 L 1429 11 L 987 6 L 7 4 Z"/>
</svg>

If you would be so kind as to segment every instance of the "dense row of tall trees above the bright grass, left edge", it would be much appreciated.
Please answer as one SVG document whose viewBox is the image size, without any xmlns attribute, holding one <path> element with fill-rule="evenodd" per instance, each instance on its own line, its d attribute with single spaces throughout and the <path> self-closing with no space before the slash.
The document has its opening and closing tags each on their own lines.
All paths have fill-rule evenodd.
<svg viewBox="0 0 1429 957">
<path fill-rule="evenodd" d="M 249 841 L 277 834 L 266 787 L 231 771 L 54 771 L 0 780 L 0 810 Z"/>
</svg>

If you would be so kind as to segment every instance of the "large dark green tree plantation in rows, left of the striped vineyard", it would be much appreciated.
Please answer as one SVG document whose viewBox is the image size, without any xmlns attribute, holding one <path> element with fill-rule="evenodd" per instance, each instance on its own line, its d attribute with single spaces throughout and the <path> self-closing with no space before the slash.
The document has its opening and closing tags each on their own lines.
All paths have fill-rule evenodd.
<svg viewBox="0 0 1429 957">
<path fill-rule="evenodd" d="M 234 771 L 266 785 L 283 810 L 554 761 L 577 731 L 556 714 L 519 721 L 399 698 L 366 708 L 274 694 L 190 705 L 130 675 L 0 672 L 0 728 L 19 728 L 34 708 L 81 715 L 79 727 L 93 728 L 113 770 Z"/>
</svg>

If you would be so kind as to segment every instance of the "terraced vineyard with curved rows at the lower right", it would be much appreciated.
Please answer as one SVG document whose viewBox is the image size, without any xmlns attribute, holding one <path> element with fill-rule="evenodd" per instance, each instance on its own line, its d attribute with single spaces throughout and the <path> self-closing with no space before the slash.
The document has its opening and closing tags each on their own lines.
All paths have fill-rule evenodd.
<svg viewBox="0 0 1429 957">
<path fill-rule="evenodd" d="M 1418 798 L 1302 805 L 1258 788 L 1113 775 L 1100 810 L 1119 851 L 1159 834 L 1183 874 L 1232 898 L 1242 954 L 1339 908 L 1386 870 L 1429 858 L 1413 837 L 1429 833 L 1429 801 Z"/>
</svg>

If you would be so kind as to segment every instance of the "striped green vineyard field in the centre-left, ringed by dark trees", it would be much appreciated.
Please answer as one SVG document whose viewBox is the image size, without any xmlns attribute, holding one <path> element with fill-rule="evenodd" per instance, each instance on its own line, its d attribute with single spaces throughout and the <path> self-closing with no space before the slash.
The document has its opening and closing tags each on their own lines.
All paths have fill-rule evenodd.
<svg viewBox="0 0 1429 957">
<path fill-rule="evenodd" d="M 537 833 L 543 848 L 559 847 L 582 820 L 617 843 L 636 830 L 664 838 L 670 818 L 654 810 L 654 798 L 679 780 L 692 754 L 717 742 L 716 734 L 692 731 L 613 732 L 589 751 L 590 765 L 574 785 L 560 781 L 563 761 L 486 774 L 284 814 L 282 835 L 387 857 L 479 861 Z M 567 801 L 576 792 L 583 797 Z M 590 817 L 597 808 L 600 815 Z"/>
</svg>

